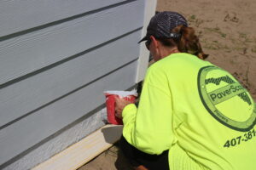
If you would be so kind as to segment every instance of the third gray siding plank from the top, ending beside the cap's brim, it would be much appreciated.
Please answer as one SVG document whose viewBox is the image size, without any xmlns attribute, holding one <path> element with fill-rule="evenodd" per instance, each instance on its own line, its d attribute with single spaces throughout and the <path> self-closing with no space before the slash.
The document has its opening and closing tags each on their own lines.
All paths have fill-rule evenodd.
<svg viewBox="0 0 256 170">
<path fill-rule="evenodd" d="M 137 59 L 140 32 L 141 30 L 133 32 L 101 48 L 2 88 L 0 127 Z"/>
</svg>

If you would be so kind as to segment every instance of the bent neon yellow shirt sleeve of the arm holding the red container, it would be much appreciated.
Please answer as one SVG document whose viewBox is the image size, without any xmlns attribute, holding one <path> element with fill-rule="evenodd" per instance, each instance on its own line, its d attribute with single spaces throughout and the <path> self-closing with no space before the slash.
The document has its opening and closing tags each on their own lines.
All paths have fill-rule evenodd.
<svg viewBox="0 0 256 170">
<path fill-rule="evenodd" d="M 148 71 L 138 108 L 127 105 L 123 111 L 125 139 L 148 154 L 160 155 L 170 149 L 172 96 L 163 73 Z"/>
</svg>

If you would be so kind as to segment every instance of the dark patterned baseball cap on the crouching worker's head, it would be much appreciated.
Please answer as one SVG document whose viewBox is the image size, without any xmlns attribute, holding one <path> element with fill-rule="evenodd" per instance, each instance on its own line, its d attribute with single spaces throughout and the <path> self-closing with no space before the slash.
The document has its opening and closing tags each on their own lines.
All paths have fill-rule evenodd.
<svg viewBox="0 0 256 170">
<path fill-rule="evenodd" d="M 155 14 L 147 27 L 147 34 L 140 42 L 146 41 L 150 36 L 156 38 L 177 38 L 180 33 L 171 32 L 177 26 L 188 26 L 187 20 L 183 15 L 172 11 L 164 11 Z"/>
</svg>

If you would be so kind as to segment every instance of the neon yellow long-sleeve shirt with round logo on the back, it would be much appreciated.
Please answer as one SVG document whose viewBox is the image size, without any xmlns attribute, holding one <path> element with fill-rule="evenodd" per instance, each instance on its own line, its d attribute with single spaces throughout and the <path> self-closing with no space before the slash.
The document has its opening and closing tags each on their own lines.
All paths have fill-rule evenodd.
<svg viewBox="0 0 256 170">
<path fill-rule="evenodd" d="M 256 105 L 234 77 L 190 54 L 148 68 L 138 108 L 123 111 L 125 139 L 138 150 L 169 150 L 172 170 L 255 170 Z"/>
</svg>

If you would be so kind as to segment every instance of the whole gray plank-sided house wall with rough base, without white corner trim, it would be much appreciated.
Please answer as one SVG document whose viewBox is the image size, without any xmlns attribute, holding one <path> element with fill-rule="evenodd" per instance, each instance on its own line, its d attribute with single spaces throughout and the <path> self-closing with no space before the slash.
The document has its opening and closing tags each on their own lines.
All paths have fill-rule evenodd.
<svg viewBox="0 0 256 170">
<path fill-rule="evenodd" d="M 0 169 L 29 169 L 101 127 L 136 84 L 146 0 L 0 2 Z"/>
</svg>

